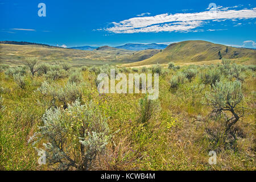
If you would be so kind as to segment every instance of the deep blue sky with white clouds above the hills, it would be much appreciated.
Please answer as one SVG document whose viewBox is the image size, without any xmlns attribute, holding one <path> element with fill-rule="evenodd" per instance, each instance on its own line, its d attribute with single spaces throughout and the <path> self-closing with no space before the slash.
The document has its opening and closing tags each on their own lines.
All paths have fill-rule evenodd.
<svg viewBox="0 0 256 182">
<path fill-rule="evenodd" d="M 46 17 L 38 16 L 39 3 Z M 0 0 L 0 17 L 0 40 L 63 47 L 207 40 L 256 47 L 256 1 Z"/>
</svg>

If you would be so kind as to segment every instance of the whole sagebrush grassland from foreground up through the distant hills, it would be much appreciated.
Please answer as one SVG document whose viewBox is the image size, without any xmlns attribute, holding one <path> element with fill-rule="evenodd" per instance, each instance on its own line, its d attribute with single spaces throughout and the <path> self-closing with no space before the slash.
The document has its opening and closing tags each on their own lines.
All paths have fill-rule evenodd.
<svg viewBox="0 0 256 182">
<path fill-rule="evenodd" d="M 209 45 L 213 52 L 220 47 L 226 50 L 225 46 Z M 54 144 L 52 138 L 61 139 L 55 145 L 59 147 L 55 152 L 64 151 L 74 163 L 81 164 L 88 154 L 84 153 L 81 138 L 96 139 L 92 142 L 95 146 L 102 142 L 97 140 L 98 136 L 86 135 L 83 122 L 88 118 L 88 132 L 94 131 L 98 121 L 100 124 L 104 121 L 100 126 L 108 128 L 106 138 L 102 138 L 107 142 L 100 147 L 104 150 L 94 151 L 97 155 L 88 168 L 71 165 L 69 170 L 255 170 L 255 51 L 228 47 L 228 53 L 223 56 L 229 57 L 237 51 L 238 57 L 227 61 L 216 58 L 215 54 L 198 56 L 200 52 L 192 56 L 192 51 L 188 50 L 193 46 L 190 42 L 189 47 L 186 46 L 187 43 L 173 44 L 162 51 L 109 47 L 82 51 L 0 44 L 0 170 L 57 168 L 60 162 L 51 164 L 49 158 L 46 165 L 40 166 L 35 149 L 46 149 L 43 143 Z M 184 60 L 180 60 L 181 52 Z M 170 55 L 177 58 L 175 63 L 168 64 L 173 59 L 165 60 Z M 209 60 L 201 59 L 204 56 Z M 33 69 L 24 61 L 28 57 L 35 61 Z M 136 60 L 138 62 L 131 63 Z M 129 73 L 159 73 L 158 99 L 148 104 L 142 93 L 99 94 L 96 78 L 99 73 L 109 74 L 110 68 L 127 77 Z M 31 70 L 35 71 L 34 76 Z M 236 88 L 233 90 L 232 86 L 225 87 L 234 83 L 241 87 L 233 87 Z M 242 117 L 229 133 L 225 131 L 225 122 L 232 114 L 223 111 L 218 115 L 208 101 L 209 95 L 218 91 L 214 90 L 218 84 L 223 93 L 218 98 L 224 103 L 228 97 L 221 96 L 226 90 L 232 90 L 232 98 L 243 96 L 236 104 L 236 111 L 242 113 Z M 80 105 L 74 106 L 74 111 L 71 108 L 76 101 Z M 83 109 L 79 110 L 80 107 Z M 145 112 L 145 108 L 150 109 Z M 100 119 L 90 115 L 96 111 L 94 109 L 100 113 Z M 83 111 L 89 114 L 77 114 Z M 50 130 L 46 126 L 47 113 L 49 120 L 57 118 Z M 53 117 L 56 113 L 60 113 L 61 118 Z M 150 117 L 145 117 L 145 113 Z M 93 125 L 94 122 L 97 125 Z M 41 140 L 35 138 L 36 133 Z M 86 151 L 97 149 L 92 143 L 85 145 Z M 52 151 L 46 150 L 48 157 L 51 156 Z M 209 151 L 216 151 L 217 164 L 208 163 Z M 62 160 L 68 162 L 65 156 Z M 66 168 L 60 165 L 57 169 Z"/>
</svg>

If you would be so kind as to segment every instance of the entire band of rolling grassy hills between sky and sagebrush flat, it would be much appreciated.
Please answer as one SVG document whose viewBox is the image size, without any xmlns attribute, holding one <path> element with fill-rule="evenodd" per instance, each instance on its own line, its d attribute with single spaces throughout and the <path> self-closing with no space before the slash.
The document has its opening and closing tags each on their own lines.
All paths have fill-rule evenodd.
<svg viewBox="0 0 256 182">
<path fill-rule="evenodd" d="M 218 48 L 221 48 L 221 52 L 225 52 L 226 46 L 208 42 L 199 42 L 197 44 L 198 42 L 192 41 L 171 44 L 162 51 L 159 49 L 129 51 L 108 46 L 98 50 L 85 51 L 38 45 L 0 44 L 0 63 L 19 65 L 26 57 L 37 57 L 39 61 L 46 63 L 67 61 L 75 67 L 109 64 L 139 68 L 151 67 L 158 63 L 163 67 L 167 67 L 170 61 L 181 66 L 189 64 L 209 65 L 221 62 L 218 59 L 218 55 L 216 57 L 216 51 Z M 199 49 L 196 49 L 196 47 Z M 209 50 L 202 52 L 203 48 Z M 256 51 L 253 49 L 228 47 L 228 53 L 222 53 L 222 56 L 234 60 L 236 63 L 256 64 L 255 53 Z"/>
</svg>

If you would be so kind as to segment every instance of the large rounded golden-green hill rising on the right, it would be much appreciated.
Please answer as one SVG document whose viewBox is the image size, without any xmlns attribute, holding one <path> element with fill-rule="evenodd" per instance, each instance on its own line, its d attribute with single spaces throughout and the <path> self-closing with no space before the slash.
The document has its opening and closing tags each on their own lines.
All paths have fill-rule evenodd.
<svg viewBox="0 0 256 182">
<path fill-rule="evenodd" d="M 220 54 L 219 54 L 220 52 Z M 188 40 L 179 43 L 170 44 L 162 52 L 129 66 L 149 65 L 149 64 L 166 64 L 170 61 L 175 63 L 210 61 L 225 59 L 248 59 L 256 60 L 256 50 L 248 48 L 235 48 L 214 44 L 202 40 Z"/>
</svg>

